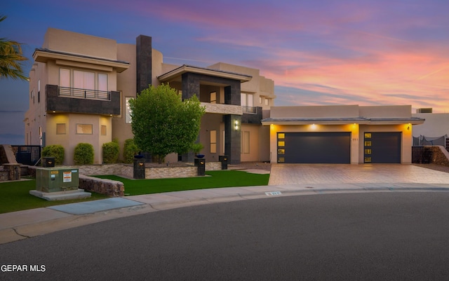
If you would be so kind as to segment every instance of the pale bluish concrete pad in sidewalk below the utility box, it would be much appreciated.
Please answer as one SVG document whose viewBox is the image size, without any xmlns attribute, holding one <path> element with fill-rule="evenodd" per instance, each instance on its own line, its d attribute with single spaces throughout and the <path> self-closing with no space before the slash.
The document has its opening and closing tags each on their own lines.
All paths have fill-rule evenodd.
<svg viewBox="0 0 449 281">
<path fill-rule="evenodd" d="M 65 212 L 67 214 L 91 214 L 95 212 L 112 210 L 123 207 L 131 207 L 136 205 L 142 205 L 142 203 L 133 200 L 128 200 L 125 198 L 108 198 L 83 203 L 72 203 L 67 205 L 52 206 L 48 208 L 60 212 Z"/>
</svg>

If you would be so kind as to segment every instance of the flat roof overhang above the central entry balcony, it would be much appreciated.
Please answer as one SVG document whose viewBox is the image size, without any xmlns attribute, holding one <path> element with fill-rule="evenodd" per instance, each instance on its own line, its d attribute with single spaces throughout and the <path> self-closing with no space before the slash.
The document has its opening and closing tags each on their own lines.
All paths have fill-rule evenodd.
<svg viewBox="0 0 449 281">
<path fill-rule="evenodd" d="M 208 76 L 239 80 L 240 83 L 250 81 L 253 78 L 253 76 L 246 74 L 238 74 L 234 72 L 222 71 L 217 69 L 208 69 L 203 67 L 193 67 L 187 64 L 184 64 L 181 67 L 177 67 L 176 69 L 173 69 L 171 71 L 168 71 L 166 74 L 157 76 L 157 78 L 159 79 L 160 82 L 166 83 L 180 78 L 180 76 L 182 76 L 182 74 L 185 73 L 203 74 Z"/>
</svg>

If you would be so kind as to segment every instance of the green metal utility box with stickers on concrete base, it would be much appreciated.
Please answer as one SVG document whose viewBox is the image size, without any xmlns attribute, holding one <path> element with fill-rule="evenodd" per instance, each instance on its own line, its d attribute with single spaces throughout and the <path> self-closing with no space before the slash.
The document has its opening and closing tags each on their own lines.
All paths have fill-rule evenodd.
<svg viewBox="0 0 449 281">
<path fill-rule="evenodd" d="M 36 190 L 42 192 L 73 191 L 79 188 L 79 171 L 72 168 L 36 169 Z"/>
</svg>

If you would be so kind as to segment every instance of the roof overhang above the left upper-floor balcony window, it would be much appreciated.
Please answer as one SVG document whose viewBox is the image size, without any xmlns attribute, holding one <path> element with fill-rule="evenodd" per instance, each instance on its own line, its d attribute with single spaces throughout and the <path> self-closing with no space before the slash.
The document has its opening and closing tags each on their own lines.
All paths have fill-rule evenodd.
<svg viewBox="0 0 449 281">
<path fill-rule="evenodd" d="M 102 57 L 89 57 L 87 55 L 64 53 L 55 50 L 48 50 L 46 48 L 37 48 L 36 50 L 34 50 L 33 58 L 36 62 L 59 60 L 95 64 L 102 67 L 112 67 L 119 73 L 129 68 L 129 62 L 123 62 L 121 60 L 108 60 Z"/>
</svg>

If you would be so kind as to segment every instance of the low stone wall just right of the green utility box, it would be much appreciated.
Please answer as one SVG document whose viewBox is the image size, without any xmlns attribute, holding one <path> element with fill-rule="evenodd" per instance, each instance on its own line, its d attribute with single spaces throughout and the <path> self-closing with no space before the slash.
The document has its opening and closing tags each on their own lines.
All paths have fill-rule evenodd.
<svg viewBox="0 0 449 281">
<path fill-rule="evenodd" d="M 98 179 L 83 174 L 79 175 L 79 188 L 84 189 L 84 191 L 105 194 L 109 197 L 125 196 L 125 186 L 123 185 L 123 182 L 113 181 L 111 179 Z"/>
</svg>

